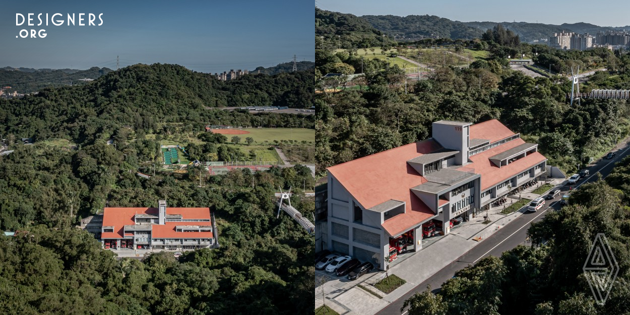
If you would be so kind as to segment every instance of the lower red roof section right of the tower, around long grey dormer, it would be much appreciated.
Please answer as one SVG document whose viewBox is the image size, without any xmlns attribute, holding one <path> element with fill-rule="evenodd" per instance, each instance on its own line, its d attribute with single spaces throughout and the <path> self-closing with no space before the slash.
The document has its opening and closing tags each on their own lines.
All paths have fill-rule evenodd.
<svg viewBox="0 0 630 315">
<path fill-rule="evenodd" d="M 518 159 L 507 166 L 501 166 L 501 168 L 496 166 L 495 163 L 492 163 L 489 159 L 491 156 L 495 156 L 496 154 L 512 149 L 513 147 L 520 146 L 524 143 L 525 141 L 523 139 L 515 139 L 505 144 L 501 144 L 501 146 L 494 147 L 493 149 L 470 157 L 470 160 L 473 163 L 467 164 L 465 167 L 474 168 L 475 173 L 481 174 L 482 191 L 547 159 L 539 152 L 534 152 L 532 154 L 527 154 L 527 156 L 522 159 Z"/>
</svg>

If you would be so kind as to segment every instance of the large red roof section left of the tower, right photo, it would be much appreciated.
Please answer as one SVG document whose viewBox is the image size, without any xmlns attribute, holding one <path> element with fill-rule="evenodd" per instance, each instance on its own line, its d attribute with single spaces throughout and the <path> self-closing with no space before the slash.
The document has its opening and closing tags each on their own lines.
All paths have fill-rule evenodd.
<svg viewBox="0 0 630 315">
<path fill-rule="evenodd" d="M 328 171 L 365 209 L 390 199 L 406 202 L 406 213 L 382 224 L 389 234 L 398 234 L 433 216 L 433 211 L 410 190 L 427 180 L 407 160 L 440 148 L 435 140 L 427 139 L 331 166 Z"/>
</svg>

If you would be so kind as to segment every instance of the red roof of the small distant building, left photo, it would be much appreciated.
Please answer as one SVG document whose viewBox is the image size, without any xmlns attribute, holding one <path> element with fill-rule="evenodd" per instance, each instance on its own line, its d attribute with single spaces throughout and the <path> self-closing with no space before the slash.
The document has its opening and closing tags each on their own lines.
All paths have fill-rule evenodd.
<svg viewBox="0 0 630 315">
<path fill-rule="evenodd" d="M 103 209 L 103 226 L 113 226 L 113 232 L 104 232 L 101 234 L 101 239 L 103 238 L 123 238 L 123 229 L 125 226 L 132 226 L 135 224 L 134 215 L 136 214 L 151 214 L 158 215 L 157 208 L 110 208 L 107 207 Z M 166 214 L 181 214 L 182 219 L 210 219 L 210 208 L 166 208 Z M 210 222 L 166 222 L 165 226 L 172 225 L 173 233 L 175 233 L 175 226 L 195 226 L 195 225 L 209 225 Z M 156 227 L 159 224 L 154 224 L 152 226 L 152 235 L 159 238 L 182 238 L 188 237 L 190 238 L 212 238 L 212 232 L 177 232 L 178 234 L 182 234 L 183 236 L 173 236 L 173 234 L 169 234 L 168 228 L 161 229 Z M 164 227 L 164 226 L 161 226 Z M 155 231 L 164 231 L 167 236 L 161 236 L 154 234 Z M 203 233 L 199 236 L 193 236 L 195 233 Z M 209 236 L 208 236 L 209 234 Z"/>
</svg>

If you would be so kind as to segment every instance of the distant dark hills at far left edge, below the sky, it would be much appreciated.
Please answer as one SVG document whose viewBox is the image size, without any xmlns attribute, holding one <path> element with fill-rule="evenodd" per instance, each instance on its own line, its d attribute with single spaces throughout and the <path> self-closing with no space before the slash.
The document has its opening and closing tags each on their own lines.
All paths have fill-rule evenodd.
<svg viewBox="0 0 630 315">
<path fill-rule="evenodd" d="M 0 69 L 0 87 L 11 86 L 11 91 L 18 91 L 21 94 L 37 92 L 43 88 L 84 84 L 85 82 L 79 81 L 79 79 L 96 79 L 112 72 L 112 69 L 99 67 L 79 71 L 72 71 L 71 69 L 24 69 L 24 71 L 20 71 L 7 68 Z"/>
</svg>

